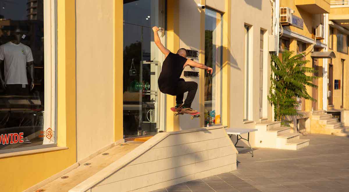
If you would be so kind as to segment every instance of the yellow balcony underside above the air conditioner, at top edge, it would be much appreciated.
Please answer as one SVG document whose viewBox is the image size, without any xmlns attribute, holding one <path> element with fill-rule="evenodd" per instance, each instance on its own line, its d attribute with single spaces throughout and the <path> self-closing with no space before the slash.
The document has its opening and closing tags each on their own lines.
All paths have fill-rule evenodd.
<svg viewBox="0 0 349 192">
<path fill-rule="evenodd" d="M 297 7 L 311 14 L 322 14 L 330 12 L 330 0 L 295 0 Z"/>
</svg>

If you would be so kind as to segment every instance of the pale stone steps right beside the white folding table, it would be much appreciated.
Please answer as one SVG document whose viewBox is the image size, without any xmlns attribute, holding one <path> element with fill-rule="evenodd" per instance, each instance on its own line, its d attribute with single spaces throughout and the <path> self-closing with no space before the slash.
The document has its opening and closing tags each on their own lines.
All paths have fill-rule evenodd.
<svg viewBox="0 0 349 192">
<path fill-rule="evenodd" d="M 297 150 L 309 145 L 309 139 L 300 139 L 300 133 L 291 133 L 280 121 L 262 121 L 255 126 L 255 147 Z"/>
</svg>

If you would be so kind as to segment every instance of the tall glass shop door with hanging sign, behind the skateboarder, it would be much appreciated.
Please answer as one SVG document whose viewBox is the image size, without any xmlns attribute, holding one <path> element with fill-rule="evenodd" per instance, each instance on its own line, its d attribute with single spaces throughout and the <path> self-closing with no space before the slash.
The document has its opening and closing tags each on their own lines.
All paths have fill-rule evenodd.
<svg viewBox="0 0 349 192">
<path fill-rule="evenodd" d="M 124 0 L 124 137 L 161 130 L 159 114 L 164 102 L 157 79 L 164 58 L 151 28 L 164 28 L 164 21 L 164 0 Z M 164 39 L 164 33 L 159 36 Z"/>
</svg>

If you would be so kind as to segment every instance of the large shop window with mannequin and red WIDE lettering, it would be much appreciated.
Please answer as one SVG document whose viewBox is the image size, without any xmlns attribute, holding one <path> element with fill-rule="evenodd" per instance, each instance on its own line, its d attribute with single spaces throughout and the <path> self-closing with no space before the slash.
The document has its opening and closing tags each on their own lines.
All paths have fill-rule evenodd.
<svg viewBox="0 0 349 192">
<path fill-rule="evenodd" d="M 52 62 L 46 62 L 52 55 L 44 54 L 44 36 L 51 38 L 51 29 L 44 35 L 44 7 L 50 8 L 54 1 L 46 2 L 0 1 L 0 153 L 55 143 L 50 105 L 54 98 L 47 95 L 50 90 L 44 91 L 46 82 L 51 86 L 46 79 L 51 78 L 49 69 L 54 69 Z M 50 22 L 51 15 L 45 19 Z M 52 46 L 45 47 L 51 50 Z M 54 57 L 52 60 L 54 63 Z"/>
</svg>

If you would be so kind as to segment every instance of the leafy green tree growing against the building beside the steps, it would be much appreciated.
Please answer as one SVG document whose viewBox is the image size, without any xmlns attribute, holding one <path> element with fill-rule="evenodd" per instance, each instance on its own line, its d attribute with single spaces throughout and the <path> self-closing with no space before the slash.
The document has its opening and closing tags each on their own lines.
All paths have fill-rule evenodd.
<svg viewBox="0 0 349 192">
<path fill-rule="evenodd" d="M 272 85 L 270 86 L 268 100 L 274 105 L 275 121 L 281 121 L 286 125 L 289 121 L 287 116 L 302 116 L 296 107 L 299 106 L 297 98 L 316 101 L 306 91 L 306 86 L 315 87 L 312 82 L 317 76 L 307 76 L 306 73 L 316 74 L 317 70 L 305 67 L 309 60 L 303 60 L 303 54 L 294 55 L 294 52 L 285 50 L 282 53 L 282 61 L 275 54 L 271 56 L 270 66 L 274 73 L 270 75 Z"/>
</svg>

